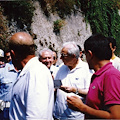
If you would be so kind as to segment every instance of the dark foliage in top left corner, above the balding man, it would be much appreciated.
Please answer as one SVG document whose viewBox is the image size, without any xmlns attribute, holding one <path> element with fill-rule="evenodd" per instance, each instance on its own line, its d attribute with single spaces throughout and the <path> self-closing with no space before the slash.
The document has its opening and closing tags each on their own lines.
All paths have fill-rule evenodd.
<svg viewBox="0 0 120 120">
<path fill-rule="evenodd" d="M 28 30 L 30 30 L 30 25 L 32 23 L 33 17 L 33 3 L 32 1 L 4 1 L 0 2 L 4 8 L 4 14 L 7 16 L 8 20 L 14 19 L 17 21 L 20 29 L 24 28 L 26 25 Z"/>
</svg>

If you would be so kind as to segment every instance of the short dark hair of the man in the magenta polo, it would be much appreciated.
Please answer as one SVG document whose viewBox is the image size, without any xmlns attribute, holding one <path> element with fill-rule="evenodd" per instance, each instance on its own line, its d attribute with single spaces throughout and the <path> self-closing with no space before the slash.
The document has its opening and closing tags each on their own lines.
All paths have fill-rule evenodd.
<svg viewBox="0 0 120 120">
<path fill-rule="evenodd" d="M 110 60 L 112 57 L 110 42 L 101 34 L 90 36 L 84 43 L 84 49 L 85 52 L 88 52 L 88 50 L 92 51 L 92 53 L 100 60 Z"/>
</svg>

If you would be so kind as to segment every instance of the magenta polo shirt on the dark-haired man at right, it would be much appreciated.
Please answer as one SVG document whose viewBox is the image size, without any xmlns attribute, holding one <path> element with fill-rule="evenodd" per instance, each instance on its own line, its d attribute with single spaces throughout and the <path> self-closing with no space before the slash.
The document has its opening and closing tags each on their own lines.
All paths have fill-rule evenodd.
<svg viewBox="0 0 120 120">
<path fill-rule="evenodd" d="M 97 110 L 120 104 L 120 72 L 109 62 L 93 74 L 86 104 Z M 86 118 L 93 118 L 86 115 Z"/>
</svg>

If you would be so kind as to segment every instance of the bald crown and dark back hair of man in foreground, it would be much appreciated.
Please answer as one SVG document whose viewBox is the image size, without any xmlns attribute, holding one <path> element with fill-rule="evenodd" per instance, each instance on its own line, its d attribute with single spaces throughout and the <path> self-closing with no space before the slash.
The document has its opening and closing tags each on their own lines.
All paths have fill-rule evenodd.
<svg viewBox="0 0 120 120">
<path fill-rule="evenodd" d="M 25 58 L 28 55 L 35 54 L 35 45 L 33 38 L 26 32 L 17 32 L 9 40 L 9 47 L 20 57 Z"/>
</svg>

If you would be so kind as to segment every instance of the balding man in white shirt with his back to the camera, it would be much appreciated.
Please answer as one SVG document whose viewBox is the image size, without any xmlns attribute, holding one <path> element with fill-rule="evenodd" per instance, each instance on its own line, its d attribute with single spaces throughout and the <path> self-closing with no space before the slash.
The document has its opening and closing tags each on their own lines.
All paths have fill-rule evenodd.
<svg viewBox="0 0 120 120">
<path fill-rule="evenodd" d="M 9 40 L 12 62 L 21 70 L 13 86 L 10 120 L 52 119 L 53 80 L 49 70 L 35 57 L 35 45 L 26 32 Z"/>
</svg>

